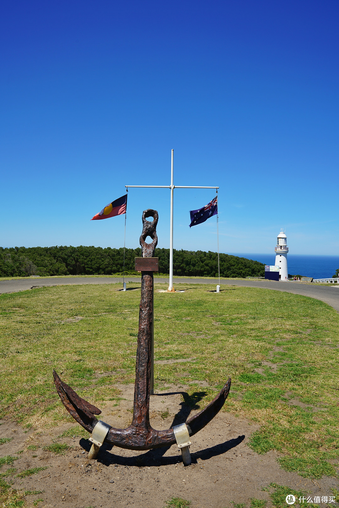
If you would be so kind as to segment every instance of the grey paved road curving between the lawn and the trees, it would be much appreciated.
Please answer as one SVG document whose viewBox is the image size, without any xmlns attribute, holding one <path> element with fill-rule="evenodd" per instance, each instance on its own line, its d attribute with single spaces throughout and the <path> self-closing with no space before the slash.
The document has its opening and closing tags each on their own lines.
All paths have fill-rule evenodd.
<svg viewBox="0 0 339 508">
<path fill-rule="evenodd" d="M 141 278 L 125 277 L 126 282 L 140 282 Z M 156 282 L 169 282 L 168 278 L 156 278 Z M 112 284 L 116 282 L 122 283 L 122 277 L 52 277 L 52 278 L 33 278 L 18 280 L 0 280 L 0 294 L 1 293 L 14 293 L 17 291 L 24 291 L 32 289 L 37 286 L 54 286 L 62 284 Z M 175 283 L 184 284 L 214 284 L 218 283 L 218 279 L 199 279 L 199 278 L 185 278 L 175 277 Z M 221 284 L 238 285 L 250 288 L 263 288 L 273 289 L 278 291 L 285 291 L 287 293 L 294 293 L 296 295 L 310 296 L 317 300 L 331 305 L 339 312 L 339 284 L 333 286 L 320 286 L 312 284 L 304 284 L 298 282 L 276 282 L 273 280 L 222 280 Z"/>
</svg>

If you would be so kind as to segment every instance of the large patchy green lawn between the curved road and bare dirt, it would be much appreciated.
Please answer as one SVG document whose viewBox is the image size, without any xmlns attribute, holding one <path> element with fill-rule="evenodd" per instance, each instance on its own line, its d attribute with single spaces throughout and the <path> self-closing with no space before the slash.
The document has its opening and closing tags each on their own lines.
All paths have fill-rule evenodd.
<svg viewBox="0 0 339 508">
<path fill-rule="evenodd" d="M 134 383 L 140 301 L 139 291 L 120 286 L 0 295 L 0 417 L 27 428 L 74 423 L 56 394 L 53 368 L 86 400 L 119 404 L 116 383 Z M 223 410 L 260 424 L 253 450 L 279 451 L 281 467 L 304 477 L 336 475 L 329 461 L 339 457 L 338 313 L 312 298 L 236 285 L 219 294 L 209 285 L 176 284 L 186 290 L 176 294 L 155 287 L 155 360 L 193 359 L 155 364 L 156 389 L 193 382 L 182 401 L 199 409 L 231 376 Z M 194 383 L 202 380 L 207 388 Z M 65 432 L 59 437 L 87 437 L 78 426 Z"/>
</svg>

